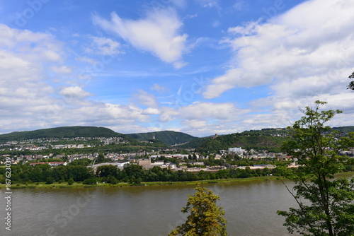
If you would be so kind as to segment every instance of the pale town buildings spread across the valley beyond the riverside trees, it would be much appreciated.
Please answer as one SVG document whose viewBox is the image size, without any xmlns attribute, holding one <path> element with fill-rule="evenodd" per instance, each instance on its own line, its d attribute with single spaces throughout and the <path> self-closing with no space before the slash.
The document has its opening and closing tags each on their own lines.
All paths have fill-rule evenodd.
<svg viewBox="0 0 354 236">
<path fill-rule="evenodd" d="M 70 142 L 75 141 L 76 144 Z M 79 143 L 84 141 L 83 143 Z M 93 141 L 98 141 L 96 144 L 92 144 Z M 67 142 L 66 144 L 52 144 L 57 142 Z M 146 141 L 142 141 L 145 143 Z M 50 144 L 49 144 L 50 143 Z M 99 153 L 74 153 L 66 154 L 71 148 L 94 148 L 98 146 L 105 146 L 108 144 L 122 144 L 129 143 L 129 141 L 123 140 L 123 138 L 87 138 L 87 137 L 76 137 L 76 138 L 38 138 L 25 141 L 8 141 L 4 144 L 0 144 L 0 165 L 4 163 L 4 158 L 11 157 L 11 165 L 25 165 L 29 163 L 30 165 L 38 165 L 47 163 L 52 167 L 57 165 L 67 165 L 74 160 L 89 159 L 91 160 L 91 167 L 94 170 L 98 166 L 102 165 L 114 165 L 122 169 L 126 165 L 141 165 L 144 169 L 149 169 L 154 166 L 161 168 L 170 168 L 171 170 L 185 170 L 189 172 L 198 172 L 200 170 L 204 171 L 217 171 L 224 170 L 227 168 L 245 168 L 245 166 L 230 165 L 226 162 L 227 160 L 234 160 L 235 158 L 247 159 L 247 160 L 277 160 L 286 161 L 290 163 L 290 166 L 295 166 L 296 163 L 292 160 L 290 156 L 286 156 L 284 153 L 272 153 L 268 151 L 246 151 L 241 147 L 231 147 L 228 150 L 220 150 L 218 153 L 210 153 L 210 155 L 202 155 L 200 153 L 195 153 L 195 148 L 157 148 L 156 151 L 147 152 L 140 150 L 134 153 L 114 153 L 109 150 L 105 150 L 103 158 L 104 163 L 97 163 Z M 153 148 L 154 149 L 154 148 Z M 36 151 L 50 151 L 57 150 L 63 153 L 55 155 L 55 153 L 48 153 L 47 155 L 40 154 Z M 11 154 L 1 154 L 8 152 L 21 152 L 30 151 L 29 154 L 25 155 L 11 155 Z M 204 160 L 219 160 L 222 165 L 205 165 Z M 51 160 L 62 160 L 62 161 L 51 161 Z M 168 160 L 168 161 L 166 161 Z M 96 164 L 95 164 L 96 163 Z M 275 165 L 256 165 L 251 166 L 251 169 L 261 169 L 264 167 L 274 168 Z"/>
</svg>

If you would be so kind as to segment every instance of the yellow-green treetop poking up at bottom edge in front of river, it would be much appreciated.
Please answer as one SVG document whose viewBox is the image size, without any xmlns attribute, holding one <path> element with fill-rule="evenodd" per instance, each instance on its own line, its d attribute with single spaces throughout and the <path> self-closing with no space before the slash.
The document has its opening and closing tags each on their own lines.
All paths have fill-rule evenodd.
<svg viewBox="0 0 354 236">
<path fill-rule="evenodd" d="M 187 206 L 182 208 L 183 213 L 190 211 L 190 215 L 185 223 L 177 226 L 169 235 L 227 235 L 227 221 L 222 217 L 224 211 L 216 204 L 219 196 L 210 189 L 196 187 L 195 190 L 194 196 L 188 195 Z"/>
</svg>

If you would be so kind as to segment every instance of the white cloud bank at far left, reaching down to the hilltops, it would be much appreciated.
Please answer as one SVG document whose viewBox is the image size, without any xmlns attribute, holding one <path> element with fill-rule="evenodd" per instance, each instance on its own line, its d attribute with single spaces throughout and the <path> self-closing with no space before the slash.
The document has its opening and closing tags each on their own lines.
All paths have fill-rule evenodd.
<svg viewBox="0 0 354 236">
<path fill-rule="evenodd" d="M 93 94 L 78 85 L 63 87 L 70 81 L 57 73 L 72 73 L 64 52 L 62 42 L 50 34 L 0 25 L 1 132 L 72 125 L 120 127 L 123 132 L 149 120 L 154 110 L 143 114 L 133 105 L 85 100 Z"/>
</svg>

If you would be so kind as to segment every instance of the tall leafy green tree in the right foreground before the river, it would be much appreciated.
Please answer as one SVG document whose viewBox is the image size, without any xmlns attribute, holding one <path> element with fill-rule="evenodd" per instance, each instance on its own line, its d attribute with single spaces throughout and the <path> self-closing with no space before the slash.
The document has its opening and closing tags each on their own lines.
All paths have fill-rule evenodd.
<svg viewBox="0 0 354 236">
<path fill-rule="evenodd" d="M 326 102 L 316 101 L 316 107 L 302 110 L 304 117 L 290 128 L 290 140 L 282 149 L 299 162 L 298 170 L 284 168 L 282 174 L 295 182 L 290 194 L 299 208 L 278 211 L 285 216 L 285 226 L 301 235 L 354 234 L 354 178 L 336 178 L 344 170 L 348 157 L 342 150 L 354 144 L 354 134 L 339 138 L 325 126 L 340 110 L 320 111 Z"/>
</svg>

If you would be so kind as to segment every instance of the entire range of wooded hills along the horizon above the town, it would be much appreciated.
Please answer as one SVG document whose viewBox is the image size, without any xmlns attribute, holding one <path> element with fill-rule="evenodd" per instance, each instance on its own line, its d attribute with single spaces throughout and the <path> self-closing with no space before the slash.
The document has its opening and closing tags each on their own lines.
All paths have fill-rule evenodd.
<svg viewBox="0 0 354 236">
<path fill-rule="evenodd" d="M 332 129 L 346 134 L 354 131 L 354 126 L 333 127 Z M 246 150 L 255 149 L 279 152 L 282 142 L 285 141 L 286 134 L 287 129 L 278 128 L 250 130 L 241 133 L 197 138 L 177 131 L 120 134 L 105 127 L 63 126 L 0 134 L 0 143 L 36 138 L 122 137 L 125 138 L 125 140 L 135 143 L 132 145 L 136 145 L 136 141 L 152 141 L 154 139 L 154 143 L 161 142 L 168 146 L 174 146 L 176 144 L 178 148 L 197 148 L 196 151 L 206 153 L 215 153 L 219 150 L 227 150 L 227 148 L 239 146 Z"/>
</svg>

